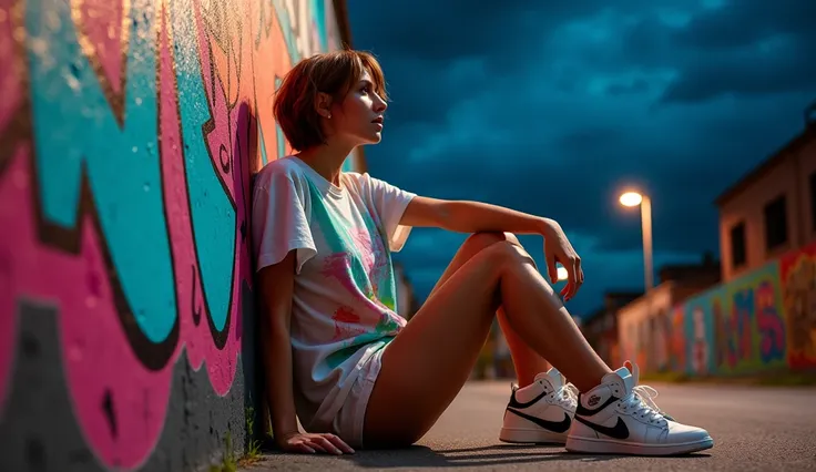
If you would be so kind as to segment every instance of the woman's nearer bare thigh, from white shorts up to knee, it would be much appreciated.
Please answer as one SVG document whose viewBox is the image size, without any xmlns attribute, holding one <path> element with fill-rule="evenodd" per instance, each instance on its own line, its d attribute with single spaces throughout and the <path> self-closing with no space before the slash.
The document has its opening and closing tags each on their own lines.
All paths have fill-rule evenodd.
<svg viewBox="0 0 816 472">
<path fill-rule="evenodd" d="M 428 298 L 390 342 L 368 401 L 366 447 L 408 445 L 434 425 L 470 376 L 500 305 L 498 283 L 519 246 L 479 252 Z"/>
</svg>

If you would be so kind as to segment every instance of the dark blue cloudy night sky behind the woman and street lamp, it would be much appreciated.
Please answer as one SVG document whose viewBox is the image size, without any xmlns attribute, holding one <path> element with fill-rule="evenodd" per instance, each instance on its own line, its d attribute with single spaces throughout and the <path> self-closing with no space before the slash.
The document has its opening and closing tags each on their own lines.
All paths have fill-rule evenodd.
<svg viewBox="0 0 816 472">
<path fill-rule="evenodd" d="M 586 275 L 577 316 L 604 291 L 643 288 L 622 188 L 652 196 L 655 269 L 718 256 L 714 199 L 798 134 L 816 99 L 814 0 L 348 8 L 354 47 L 377 55 L 390 95 L 382 142 L 365 148 L 371 175 L 560 222 Z M 465 237 L 416 228 L 395 255 L 420 300 Z M 542 265 L 541 237 L 521 240 Z"/>
</svg>

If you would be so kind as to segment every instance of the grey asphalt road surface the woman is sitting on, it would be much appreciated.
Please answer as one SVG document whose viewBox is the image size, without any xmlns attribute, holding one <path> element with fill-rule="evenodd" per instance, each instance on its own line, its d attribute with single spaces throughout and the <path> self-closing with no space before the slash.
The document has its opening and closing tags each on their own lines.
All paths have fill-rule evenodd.
<svg viewBox="0 0 816 472">
<path fill-rule="evenodd" d="M 399 470 L 816 470 L 816 389 L 652 384 L 657 404 L 708 430 L 714 449 L 679 458 L 591 456 L 498 440 L 509 382 L 471 382 L 414 448 L 348 456 L 268 454 L 256 471 Z"/>
</svg>

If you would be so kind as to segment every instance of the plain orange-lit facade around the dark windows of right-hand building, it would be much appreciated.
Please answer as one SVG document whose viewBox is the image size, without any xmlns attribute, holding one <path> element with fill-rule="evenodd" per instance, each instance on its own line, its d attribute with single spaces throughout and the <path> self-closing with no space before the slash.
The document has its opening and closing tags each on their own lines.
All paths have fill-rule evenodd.
<svg viewBox="0 0 816 472">
<path fill-rule="evenodd" d="M 810 175 L 816 172 L 816 131 L 805 132 L 798 140 L 805 144 L 782 151 L 784 160 L 721 206 L 720 247 L 724 281 L 816 240 L 809 188 Z M 785 195 L 786 199 L 787 244 L 767 252 L 763 208 L 779 195 Z M 731 253 L 731 228 L 740 222 L 745 222 L 746 263 L 735 268 Z"/>
</svg>

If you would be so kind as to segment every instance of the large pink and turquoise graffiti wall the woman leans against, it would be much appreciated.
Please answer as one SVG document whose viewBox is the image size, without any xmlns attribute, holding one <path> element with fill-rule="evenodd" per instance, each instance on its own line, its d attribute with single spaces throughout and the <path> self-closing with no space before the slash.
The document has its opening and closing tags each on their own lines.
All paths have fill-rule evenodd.
<svg viewBox="0 0 816 472">
<path fill-rule="evenodd" d="M 0 0 L 0 470 L 243 448 L 251 176 L 338 31 L 326 0 Z"/>
</svg>

